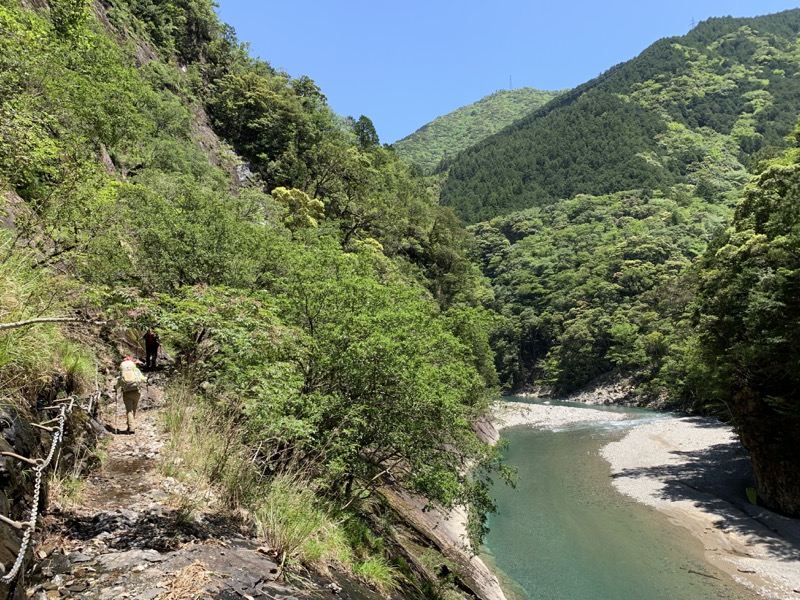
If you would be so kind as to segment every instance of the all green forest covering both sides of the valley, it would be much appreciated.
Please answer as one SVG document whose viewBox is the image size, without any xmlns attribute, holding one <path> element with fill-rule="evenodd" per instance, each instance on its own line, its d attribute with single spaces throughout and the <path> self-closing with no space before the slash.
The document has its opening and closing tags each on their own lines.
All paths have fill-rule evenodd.
<svg viewBox="0 0 800 600">
<path fill-rule="evenodd" d="M 798 30 L 711 19 L 418 151 L 252 58 L 211 0 L 0 0 L 0 321 L 155 327 L 228 505 L 280 506 L 307 527 L 284 558 L 383 591 L 407 575 L 384 484 L 467 505 L 480 543 L 511 479 L 474 430 L 499 389 L 627 377 L 719 414 L 798 516 Z M 3 336 L 23 413 L 106 348 Z"/>
</svg>

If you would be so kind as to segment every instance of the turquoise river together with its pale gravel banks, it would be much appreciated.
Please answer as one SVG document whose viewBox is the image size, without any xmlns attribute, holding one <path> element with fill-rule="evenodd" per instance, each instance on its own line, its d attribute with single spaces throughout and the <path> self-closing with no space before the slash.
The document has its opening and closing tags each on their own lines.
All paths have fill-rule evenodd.
<svg viewBox="0 0 800 600">
<path fill-rule="evenodd" d="M 749 460 L 727 425 L 519 400 L 496 405 L 519 482 L 493 489 L 484 557 L 508 597 L 799 593 L 800 523 L 749 502 Z"/>
</svg>

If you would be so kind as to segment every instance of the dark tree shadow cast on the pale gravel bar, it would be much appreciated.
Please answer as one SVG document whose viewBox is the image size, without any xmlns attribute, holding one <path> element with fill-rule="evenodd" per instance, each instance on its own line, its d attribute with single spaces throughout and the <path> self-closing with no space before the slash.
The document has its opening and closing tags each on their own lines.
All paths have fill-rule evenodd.
<svg viewBox="0 0 800 600">
<path fill-rule="evenodd" d="M 690 421 L 697 427 L 726 427 L 707 419 Z M 738 441 L 671 454 L 683 464 L 626 469 L 612 477 L 659 479 L 664 482 L 663 499 L 691 501 L 717 515 L 719 529 L 747 536 L 783 560 L 800 560 L 800 520 L 754 506 L 747 499 L 745 490 L 756 484 L 749 455 Z"/>
</svg>

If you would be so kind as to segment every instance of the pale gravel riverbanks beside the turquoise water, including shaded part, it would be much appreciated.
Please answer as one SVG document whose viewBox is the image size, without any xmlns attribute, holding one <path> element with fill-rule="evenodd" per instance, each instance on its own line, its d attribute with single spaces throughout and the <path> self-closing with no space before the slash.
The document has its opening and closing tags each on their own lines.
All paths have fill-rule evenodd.
<svg viewBox="0 0 800 600">
<path fill-rule="evenodd" d="M 494 423 L 498 429 L 558 429 L 624 418 L 591 409 L 498 402 Z M 621 493 L 687 528 L 703 542 L 715 567 L 761 597 L 800 599 L 800 521 L 748 502 L 749 462 L 728 426 L 697 417 L 645 420 L 632 423 L 601 454 Z"/>
</svg>

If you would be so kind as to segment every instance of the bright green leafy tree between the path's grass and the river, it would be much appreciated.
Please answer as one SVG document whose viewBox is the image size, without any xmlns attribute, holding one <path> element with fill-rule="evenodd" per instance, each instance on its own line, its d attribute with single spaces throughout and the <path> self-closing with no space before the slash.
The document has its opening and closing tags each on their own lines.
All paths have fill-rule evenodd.
<svg viewBox="0 0 800 600">
<path fill-rule="evenodd" d="M 302 406 L 319 428 L 307 451 L 345 497 L 391 477 L 444 506 L 480 500 L 483 512 L 486 488 L 464 465 L 497 459 L 471 429 L 487 406 L 484 379 L 424 292 L 377 279 L 373 260 L 323 238 L 281 284 L 285 318 L 307 336 Z M 462 313 L 462 332 L 471 318 Z"/>
</svg>

